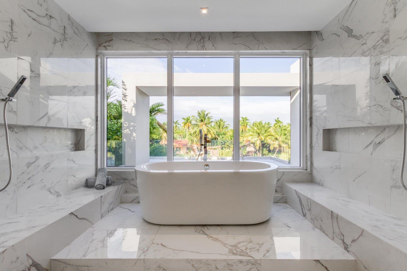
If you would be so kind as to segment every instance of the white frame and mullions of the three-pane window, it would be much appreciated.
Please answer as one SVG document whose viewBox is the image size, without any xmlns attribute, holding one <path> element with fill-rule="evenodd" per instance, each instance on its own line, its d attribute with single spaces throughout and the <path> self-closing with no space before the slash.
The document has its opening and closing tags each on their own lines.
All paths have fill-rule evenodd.
<svg viewBox="0 0 407 271">
<path fill-rule="evenodd" d="M 233 57 L 234 58 L 234 109 L 233 109 L 233 160 L 240 160 L 239 138 L 240 138 L 240 58 L 241 57 L 287 57 L 300 58 L 300 166 L 279 167 L 280 171 L 285 170 L 307 170 L 307 96 L 308 87 L 308 51 L 155 51 L 155 52 L 116 52 L 100 51 L 100 71 L 98 95 L 98 167 L 106 167 L 108 170 L 133 170 L 134 166 L 109 166 L 107 167 L 107 101 L 106 101 L 106 78 L 108 58 L 151 58 L 164 57 L 167 59 L 167 123 L 173 123 L 173 58 L 174 57 Z M 173 126 L 167 127 L 167 161 L 173 161 Z M 237 157 L 237 158 L 236 158 Z"/>
</svg>

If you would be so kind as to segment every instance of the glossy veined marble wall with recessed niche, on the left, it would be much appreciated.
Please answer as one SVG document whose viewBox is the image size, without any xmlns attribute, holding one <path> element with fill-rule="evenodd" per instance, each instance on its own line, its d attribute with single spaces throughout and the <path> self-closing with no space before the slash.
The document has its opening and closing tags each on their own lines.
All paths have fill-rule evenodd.
<svg viewBox="0 0 407 271">
<path fill-rule="evenodd" d="M 17 102 L 7 105 L 14 174 L 1 192 L 2 217 L 66 194 L 95 174 L 95 55 L 96 35 L 53 0 L 2 1 L 0 98 L 28 76 Z M 8 161 L 2 125 L 0 142 L 3 187 Z"/>
</svg>

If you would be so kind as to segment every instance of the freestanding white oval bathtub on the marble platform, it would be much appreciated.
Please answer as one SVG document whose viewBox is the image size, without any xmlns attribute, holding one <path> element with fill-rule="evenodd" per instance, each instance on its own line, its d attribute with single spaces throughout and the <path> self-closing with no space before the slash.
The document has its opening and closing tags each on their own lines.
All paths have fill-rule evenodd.
<svg viewBox="0 0 407 271">
<path fill-rule="evenodd" d="M 278 170 L 274 164 L 155 162 L 135 170 L 142 215 L 151 223 L 256 224 L 270 218 Z"/>
</svg>

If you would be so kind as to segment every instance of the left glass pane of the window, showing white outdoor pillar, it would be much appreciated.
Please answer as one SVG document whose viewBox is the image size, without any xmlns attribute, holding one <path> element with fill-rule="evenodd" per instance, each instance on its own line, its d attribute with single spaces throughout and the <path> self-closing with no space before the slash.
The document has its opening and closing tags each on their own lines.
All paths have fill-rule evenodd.
<svg viewBox="0 0 407 271">
<path fill-rule="evenodd" d="M 107 59 L 107 165 L 165 161 L 167 59 Z"/>
</svg>

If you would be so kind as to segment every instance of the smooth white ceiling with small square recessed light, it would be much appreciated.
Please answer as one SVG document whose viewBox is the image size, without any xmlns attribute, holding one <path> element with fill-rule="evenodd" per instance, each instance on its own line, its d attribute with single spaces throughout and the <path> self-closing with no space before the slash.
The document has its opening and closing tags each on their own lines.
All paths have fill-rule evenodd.
<svg viewBox="0 0 407 271">
<path fill-rule="evenodd" d="M 315 31 L 350 0 L 55 0 L 90 32 Z M 201 15 L 200 8 L 209 14 Z"/>
</svg>

